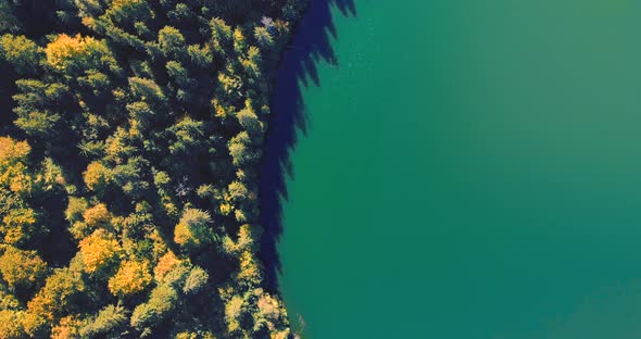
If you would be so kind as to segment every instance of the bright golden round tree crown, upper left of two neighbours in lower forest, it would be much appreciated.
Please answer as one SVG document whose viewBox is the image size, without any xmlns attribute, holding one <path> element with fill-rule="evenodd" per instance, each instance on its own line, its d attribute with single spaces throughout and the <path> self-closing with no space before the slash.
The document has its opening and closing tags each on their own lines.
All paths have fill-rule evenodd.
<svg viewBox="0 0 641 339">
<path fill-rule="evenodd" d="M 118 242 L 108 236 L 103 229 L 96 230 L 80 241 L 80 254 L 85 271 L 93 273 L 114 262 L 122 249 Z"/>
</svg>

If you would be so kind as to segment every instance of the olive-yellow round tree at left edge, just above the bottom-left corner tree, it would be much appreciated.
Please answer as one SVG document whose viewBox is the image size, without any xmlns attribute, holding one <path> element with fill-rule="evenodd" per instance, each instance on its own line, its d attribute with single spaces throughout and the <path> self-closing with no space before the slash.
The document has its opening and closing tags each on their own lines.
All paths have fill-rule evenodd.
<svg viewBox="0 0 641 339">
<path fill-rule="evenodd" d="M 8 247 L 0 256 L 0 273 L 9 287 L 30 289 L 45 277 L 47 264 L 36 251 Z"/>
</svg>

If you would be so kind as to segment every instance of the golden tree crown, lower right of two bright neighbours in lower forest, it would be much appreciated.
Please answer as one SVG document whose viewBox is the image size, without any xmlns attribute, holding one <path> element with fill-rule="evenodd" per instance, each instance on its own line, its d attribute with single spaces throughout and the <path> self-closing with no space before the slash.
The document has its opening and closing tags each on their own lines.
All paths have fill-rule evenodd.
<svg viewBox="0 0 641 339">
<path fill-rule="evenodd" d="M 114 296 L 127 296 L 143 290 L 151 284 L 151 274 L 146 262 L 126 261 L 109 279 L 109 290 Z"/>
</svg>

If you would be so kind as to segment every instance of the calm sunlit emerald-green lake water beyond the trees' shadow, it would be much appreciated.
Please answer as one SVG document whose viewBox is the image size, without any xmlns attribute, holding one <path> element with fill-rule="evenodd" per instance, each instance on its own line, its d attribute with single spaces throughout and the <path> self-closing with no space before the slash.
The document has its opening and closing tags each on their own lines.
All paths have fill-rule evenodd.
<svg viewBox="0 0 641 339">
<path fill-rule="evenodd" d="M 355 9 L 290 154 L 305 338 L 641 337 L 641 2 Z"/>
</svg>

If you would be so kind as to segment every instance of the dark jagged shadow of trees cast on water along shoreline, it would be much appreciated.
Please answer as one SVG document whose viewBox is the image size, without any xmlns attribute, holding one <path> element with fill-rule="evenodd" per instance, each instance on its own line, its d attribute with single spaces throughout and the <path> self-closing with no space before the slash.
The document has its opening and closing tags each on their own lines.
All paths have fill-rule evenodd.
<svg viewBox="0 0 641 339">
<path fill-rule="evenodd" d="M 331 17 L 332 8 L 344 16 L 356 16 L 354 0 L 310 0 L 280 60 L 272 96 L 273 116 L 259 170 L 261 224 L 265 229 L 261 259 L 265 265 L 267 287 L 274 291 L 278 288 L 278 273 L 281 271 L 277 244 L 282 233 L 282 204 L 289 199 L 287 179 L 293 178 L 290 153 L 296 147 L 298 134 L 306 135 L 310 124 L 302 89 L 322 85 L 318 64 L 338 66 L 331 47 L 331 41 L 338 39 Z"/>
</svg>

